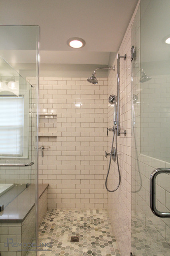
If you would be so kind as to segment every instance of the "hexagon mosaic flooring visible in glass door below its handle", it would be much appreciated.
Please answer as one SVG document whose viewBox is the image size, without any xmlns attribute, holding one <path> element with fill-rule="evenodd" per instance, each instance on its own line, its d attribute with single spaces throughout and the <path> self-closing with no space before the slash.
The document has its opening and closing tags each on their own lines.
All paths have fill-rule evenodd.
<svg viewBox="0 0 170 256">
<path fill-rule="evenodd" d="M 142 210 L 132 211 L 133 256 L 170 256 L 170 243 L 167 242 L 170 241 L 170 232 L 168 228 L 165 230 L 164 225 L 159 221 L 158 218 L 154 224 Z"/>
</svg>

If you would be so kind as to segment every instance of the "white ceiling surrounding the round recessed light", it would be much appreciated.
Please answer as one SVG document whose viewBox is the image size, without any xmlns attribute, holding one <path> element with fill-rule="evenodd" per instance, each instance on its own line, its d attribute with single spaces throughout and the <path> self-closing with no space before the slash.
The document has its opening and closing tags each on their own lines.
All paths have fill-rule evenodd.
<svg viewBox="0 0 170 256">
<path fill-rule="evenodd" d="M 109 52 L 118 51 L 137 2 L 0 0 L 0 24 L 39 25 L 42 63 L 108 64 Z M 83 38 L 85 47 L 67 46 L 71 37 Z"/>
</svg>

